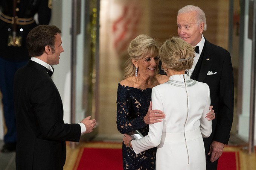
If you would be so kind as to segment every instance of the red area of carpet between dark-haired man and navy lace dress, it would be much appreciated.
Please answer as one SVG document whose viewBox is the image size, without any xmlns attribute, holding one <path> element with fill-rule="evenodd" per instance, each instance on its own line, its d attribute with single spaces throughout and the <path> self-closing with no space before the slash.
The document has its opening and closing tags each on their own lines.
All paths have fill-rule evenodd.
<svg viewBox="0 0 256 170">
<path fill-rule="evenodd" d="M 122 149 L 83 148 L 80 152 L 82 156 L 74 170 L 123 169 Z"/>
</svg>

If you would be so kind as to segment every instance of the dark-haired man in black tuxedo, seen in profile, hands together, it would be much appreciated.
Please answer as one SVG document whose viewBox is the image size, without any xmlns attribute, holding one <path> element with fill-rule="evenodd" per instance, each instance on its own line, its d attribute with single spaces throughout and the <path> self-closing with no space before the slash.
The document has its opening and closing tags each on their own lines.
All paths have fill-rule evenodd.
<svg viewBox="0 0 256 170">
<path fill-rule="evenodd" d="M 32 57 L 14 77 L 14 105 L 17 121 L 17 170 L 61 170 L 66 161 L 66 142 L 78 142 L 81 134 L 96 126 L 90 116 L 78 124 L 65 124 L 59 92 L 51 79 L 64 51 L 61 30 L 40 25 L 27 35 Z"/>
</svg>

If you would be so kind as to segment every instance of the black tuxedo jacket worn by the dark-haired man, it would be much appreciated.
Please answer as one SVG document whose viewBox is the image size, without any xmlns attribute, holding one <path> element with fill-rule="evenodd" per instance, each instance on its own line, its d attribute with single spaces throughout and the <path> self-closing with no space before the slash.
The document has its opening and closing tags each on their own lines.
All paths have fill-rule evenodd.
<svg viewBox="0 0 256 170">
<path fill-rule="evenodd" d="M 66 142 L 78 142 L 79 124 L 65 124 L 59 92 L 46 67 L 29 61 L 14 78 L 17 170 L 59 170 Z"/>
</svg>

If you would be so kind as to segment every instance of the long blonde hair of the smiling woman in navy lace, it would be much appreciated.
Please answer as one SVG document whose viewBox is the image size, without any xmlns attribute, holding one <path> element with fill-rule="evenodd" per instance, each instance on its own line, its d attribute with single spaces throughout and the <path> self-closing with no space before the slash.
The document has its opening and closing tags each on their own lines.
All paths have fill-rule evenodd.
<svg viewBox="0 0 256 170">
<path fill-rule="evenodd" d="M 155 39 L 145 34 L 138 35 L 134 38 L 128 46 L 128 53 L 130 57 L 125 63 L 126 67 L 123 77 L 127 78 L 135 74 L 135 66 L 132 62 L 133 59 L 139 60 L 147 55 L 152 56 L 155 52 L 159 52 L 159 47 Z"/>
</svg>

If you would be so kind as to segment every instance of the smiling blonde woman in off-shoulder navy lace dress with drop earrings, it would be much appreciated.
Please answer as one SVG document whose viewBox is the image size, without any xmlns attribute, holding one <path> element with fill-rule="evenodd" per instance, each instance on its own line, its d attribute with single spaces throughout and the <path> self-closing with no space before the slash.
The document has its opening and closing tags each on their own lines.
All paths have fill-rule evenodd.
<svg viewBox="0 0 256 170">
<path fill-rule="evenodd" d="M 143 136 L 148 135 L 148 124 L 165 117 L 162 111 L 149 108 L 152 88 L 168 81 L 167 76 L 157 74 L 158 51 L 155 40 L 147 35 L 137 36 L 128 47 L 130 59 L 126 62 L 125 79 L 117 89 L 116 123 L 122 134 L 139 130 Z M 152 148 L 136 155 L 123 144 L 123 169 L 155 169 L 155 154 L 156 148 Z"/>
</svg>

